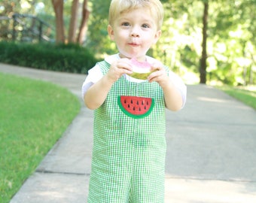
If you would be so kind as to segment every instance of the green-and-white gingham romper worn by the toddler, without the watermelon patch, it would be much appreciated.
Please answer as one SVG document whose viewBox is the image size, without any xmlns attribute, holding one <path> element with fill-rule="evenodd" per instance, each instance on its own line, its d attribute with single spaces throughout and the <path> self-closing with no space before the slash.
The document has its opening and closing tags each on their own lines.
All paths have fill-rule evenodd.
<svg viewBox="0 0 256 203">
<path fill-rule="evenodd" d="M 110 65 L 98 65 L 106 74 Z M 125 114 L 118 105 L 121 95 L 153 98 L 151 114 Z M 94 114 L 88 203 L 163 203 L 166 119 L 159 84 L 135 83 L 123 75 Z"/>
</svg>

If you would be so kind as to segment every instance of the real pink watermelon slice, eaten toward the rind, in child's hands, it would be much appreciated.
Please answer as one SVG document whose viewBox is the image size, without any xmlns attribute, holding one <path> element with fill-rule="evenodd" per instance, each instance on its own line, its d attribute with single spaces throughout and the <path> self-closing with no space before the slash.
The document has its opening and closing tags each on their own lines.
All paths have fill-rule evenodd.
<svg viewBox="0 0 256 203">
<path fill-rule="evenodd" d="M 153 72 L 149 62 L 139 62 L 137 59 L 130 59 L 130 62 L 133 66 L 133 73 L 130 74 L 130 77 L 147 80 L 148 76 Z"/>
</svg>

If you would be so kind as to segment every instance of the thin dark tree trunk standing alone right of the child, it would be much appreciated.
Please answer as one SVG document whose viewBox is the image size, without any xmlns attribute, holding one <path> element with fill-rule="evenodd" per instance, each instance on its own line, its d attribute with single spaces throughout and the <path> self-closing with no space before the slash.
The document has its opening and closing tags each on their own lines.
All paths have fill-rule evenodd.
<svg viewBox="0 0 256 203">
<path fill-rule="evenodd" d="M 200 60 L 200 83 L 206 83 L 206 41 L 207 41 L 207 20 L 208 20 L 209 3 L 204 2 L 203 11 L 203 43 L 202 43 L 202 56 Z"/>
</svg>

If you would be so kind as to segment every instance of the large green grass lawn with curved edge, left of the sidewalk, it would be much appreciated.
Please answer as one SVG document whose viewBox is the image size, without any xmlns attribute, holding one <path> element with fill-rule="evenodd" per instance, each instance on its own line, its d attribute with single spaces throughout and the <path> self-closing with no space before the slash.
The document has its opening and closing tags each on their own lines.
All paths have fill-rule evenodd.
<svg viewBox="0 0 256 203">
<path fill-rule="evenodd" d="M 9 202 L 80 110 L 67 89 L 0 73 L 0 199 Z"/>
</svg>

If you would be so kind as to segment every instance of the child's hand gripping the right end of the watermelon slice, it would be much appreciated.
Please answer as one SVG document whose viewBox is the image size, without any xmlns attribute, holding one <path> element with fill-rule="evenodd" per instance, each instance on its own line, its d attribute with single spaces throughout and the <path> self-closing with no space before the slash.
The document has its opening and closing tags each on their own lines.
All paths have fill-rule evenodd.
<svg viewBox="0 0 256 203">
<path fill-rule="evenodd" d="M 148 76 L 148 81 L 150 83 L 157 82 L 162 87 L 166 86 L 166 84 L 169 83 L 169 77 L 161 62 L 154 62 L 154 64 L 151 66 L 151 70 L 154 72 Z"/>
</svg>

